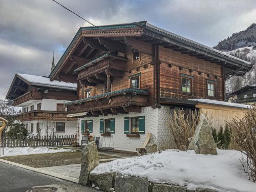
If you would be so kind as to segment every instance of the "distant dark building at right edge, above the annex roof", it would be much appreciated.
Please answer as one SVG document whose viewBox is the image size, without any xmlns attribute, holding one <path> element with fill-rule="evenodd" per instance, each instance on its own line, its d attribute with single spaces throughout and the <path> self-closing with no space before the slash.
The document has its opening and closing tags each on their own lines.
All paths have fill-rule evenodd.
<svg viewBox="0 0 256 192">
<path fill-rule="evenodd" d="M 239 90 L 233 91 L 227 96 L 228 102 L 255 104 L 256 103 L 256 84 L 244 86 Z"/>
</svg>

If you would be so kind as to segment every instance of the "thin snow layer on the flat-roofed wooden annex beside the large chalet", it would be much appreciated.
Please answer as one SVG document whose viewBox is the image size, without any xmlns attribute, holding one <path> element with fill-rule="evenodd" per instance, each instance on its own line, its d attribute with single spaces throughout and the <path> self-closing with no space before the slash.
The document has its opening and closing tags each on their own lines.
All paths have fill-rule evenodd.
<svg viewBox="0 0 256 192">
<path fill-rule="evenodd" d="M 190 101 L 198 101 L 200 103 L 214 104 L 214 105 L 223 105 L 223 106 L 231 106 L 233 108 L 246 108 L 251 109 L 252 106 L 248 104 L 240 104 L 240 103 L 231 103 L 225 101 L 216 101 L 211 99 L 188 99 Z"/>
</svg>

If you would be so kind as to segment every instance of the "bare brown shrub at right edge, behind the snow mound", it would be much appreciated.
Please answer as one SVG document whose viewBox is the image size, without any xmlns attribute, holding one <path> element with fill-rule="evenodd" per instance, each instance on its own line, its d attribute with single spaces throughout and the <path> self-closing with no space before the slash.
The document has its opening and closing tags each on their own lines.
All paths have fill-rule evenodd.
<svg viewBox="0 0 256 192">
<path fill-rule="evenodd" d="M 242 165 L 245 172 L 249 169 L 248 175 L 253 181 L 256 180 L 256 107 L 253 106 L 248 110 L 242 119 L 232 119 L 227 122 L 227 126 L 231 130 L 229 147 L 242 152 L 246 158 L 242 156 Z M 245 159 L 246 163 L 245 163 Z"/>
</svg>

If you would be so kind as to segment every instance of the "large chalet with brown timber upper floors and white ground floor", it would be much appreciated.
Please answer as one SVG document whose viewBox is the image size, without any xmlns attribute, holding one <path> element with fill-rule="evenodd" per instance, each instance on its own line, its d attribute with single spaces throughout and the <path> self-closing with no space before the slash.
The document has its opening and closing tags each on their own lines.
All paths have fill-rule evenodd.
<svg viewBox="0 0 256 192">
<path fill-rule="evenodd" d="M 147 132 L 159 150 L 173 146 L 164 123 L 173 109 L 202 108 L 218 114 L 216 108 L 226 105 L 208 99 L 225 100 L 225 79 L 244 75 L 251 67 L 139 22 L 80 28 L 49 77 L 77 83 L 78 100 L 66 105 L 69 117 L 80 118 L 80 133 L 99 136 L 102 147 L 134 152 Z M 188 100 L 193 98 L 205 100 Z M 247 105 L 228 107 L 231 114 Z"/>
</svg>

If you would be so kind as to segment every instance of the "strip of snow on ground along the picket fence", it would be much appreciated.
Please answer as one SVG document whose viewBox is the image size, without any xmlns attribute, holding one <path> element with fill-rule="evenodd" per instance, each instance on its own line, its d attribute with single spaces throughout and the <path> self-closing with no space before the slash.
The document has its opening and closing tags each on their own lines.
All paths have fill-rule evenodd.
<svg viewBox="0 0 256 192">
<path fill-rule="evenodd" d="M 3 148 L 0 149 L 0 157 L 3 157 Z M 58 153 L 58 152 L 73 152 L 74 150 L 67 150 L 65 148 L 47 148 L 47 147 L 4 147 L 4 156 L 16 155 L 30 155 L 30 154 L 44 154 L 44 153 Z"/>
</svg>

